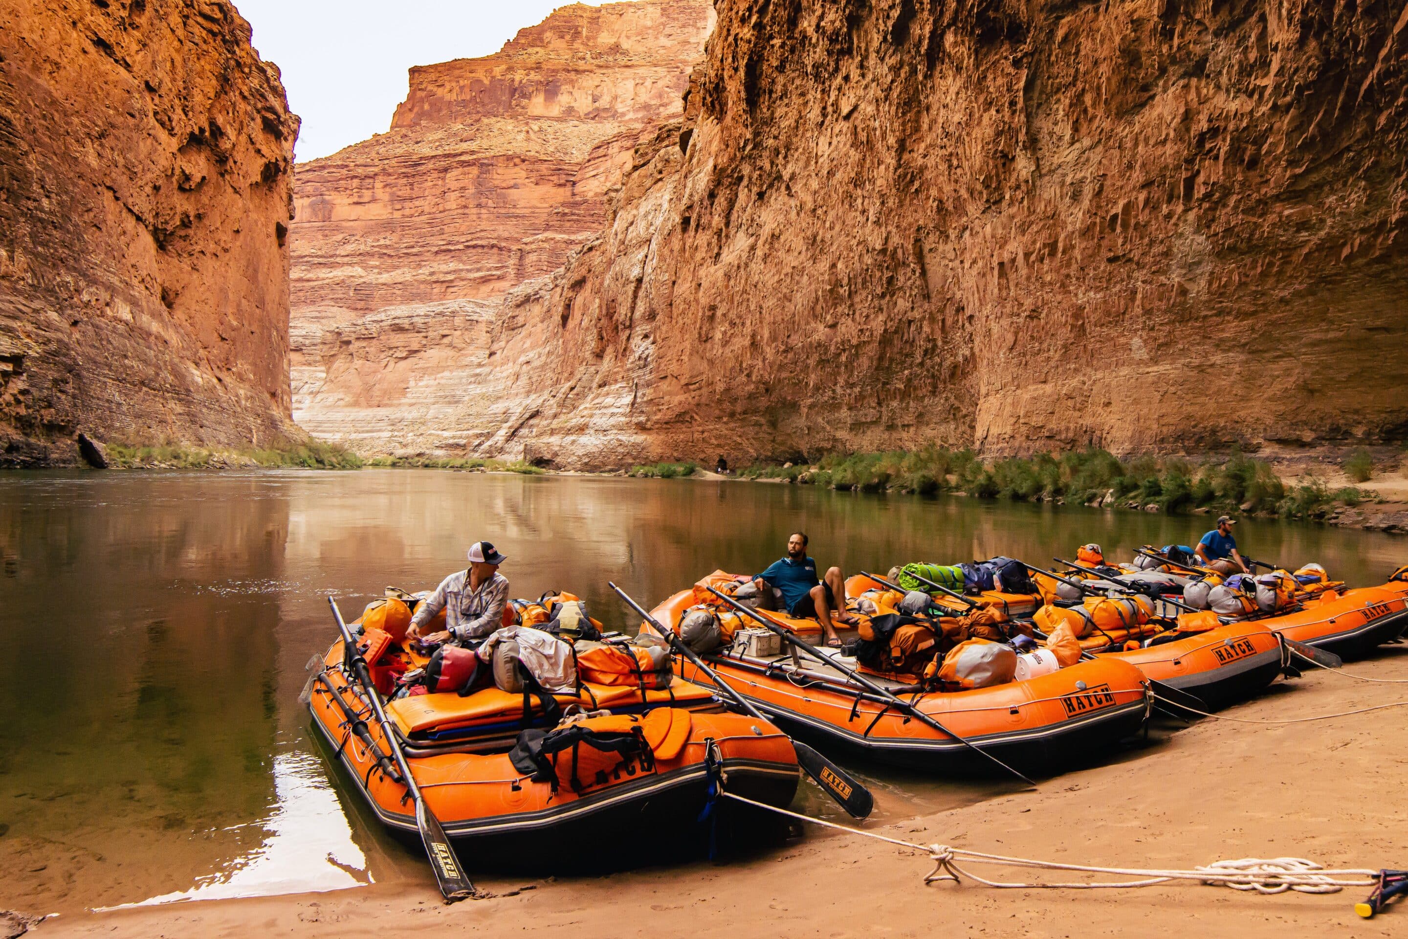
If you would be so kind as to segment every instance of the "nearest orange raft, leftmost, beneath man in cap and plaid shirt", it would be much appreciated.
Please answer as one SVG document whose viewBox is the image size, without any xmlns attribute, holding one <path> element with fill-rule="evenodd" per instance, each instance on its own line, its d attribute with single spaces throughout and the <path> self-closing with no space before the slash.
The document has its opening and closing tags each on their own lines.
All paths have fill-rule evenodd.
<svg viewBox="0 0 1408 939">
<path fill-rule="evenodd" d="M 342 669 L 342 643 L 334 643 L 310 679 L 313 724 L 376 817 L 393 832 L 414 836 L 414 804 L 360 686 Z M 649 690 L 582 683 L 577 694 L 553 698 L 565 708 L 608 711 L 577 724 L 625 731 L 639 746 L 629 753 L 565 752 L 556 779 L 535 781 L 515 767 L 510 749 L 527 726 L 543 726 L 539 701 L 529 698 L 525 715 L 524 695 L 489 687 L 466 697 L 438 693 L 387 704 L 431 809 L 456 847 L 472 846 L 460 855 L 472 870 L 639 863 L 659 856 L 645 849 L 645 840 L 658 838 L 649 832 L 669 832 L 681 846 L 691 838 L 703 845 L 711 832 L 697 819 L 719 774 L 727 774 L 731 793 L 767 805 L 784 807 L 796 793 L 791 741 L 767 722 L 725 712 L 712 693 L 690 681 L 676 677 L 666 688 Z M 741 802 L 719 801 L 714 811 L 711 824 L 722 826 L 725 838 L 777 829 L 776 815 Z"/>
</svg>

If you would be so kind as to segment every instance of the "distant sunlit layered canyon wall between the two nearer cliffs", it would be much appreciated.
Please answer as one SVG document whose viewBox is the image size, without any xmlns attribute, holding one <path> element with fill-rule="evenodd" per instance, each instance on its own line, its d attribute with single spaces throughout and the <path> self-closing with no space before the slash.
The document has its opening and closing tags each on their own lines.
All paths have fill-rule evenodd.
<svg viewBox="0 0 1408 939">
<path fill-rule="evenodd" d="M 462 448 L 490 310 L 601 229 L 712 18 L 710 0 L 562 7 L 494 55 L 411 69 L 387 134 L 300 163 L 298 422 L 366 453 Z"/>
</svg>

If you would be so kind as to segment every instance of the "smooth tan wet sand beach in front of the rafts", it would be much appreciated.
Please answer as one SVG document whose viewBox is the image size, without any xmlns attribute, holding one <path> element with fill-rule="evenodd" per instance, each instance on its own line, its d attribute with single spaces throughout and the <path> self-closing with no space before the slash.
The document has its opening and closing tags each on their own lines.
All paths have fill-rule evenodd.
<svg viewBox="0 0 1408 939">
<path fill-rule="evenodd" d="M 1345 669 L 1408 680 L 1408 648 Z M 1325 673 L 1277 683 L 1225 714 L 1309 717 L 1408 700 L 1408 684 Z M 1117 762 L 876 831 L 919 843 L 1073 863 L 1194 867 L 1222 859 L 1298 856 L 1326 866 L 1408 867 L 1402 793 L 1408 708 L 1314 724 L 1205 719 Z M 629 835 L 622 832 L 622 835 Z M 358 936 L 474 931 L 594 936 L 1391 936 L 1408 904 L 1354 915 L 1367 888 L 1257 895 L 1173 884 L 1118 891 L 925 886 L 928 857 L 870 839 L 808 832 L 763 857 L 598 878 L 480 880 L 489 900 L 445 907 L 421 883 L 258 900 L 65 915 L 31 935 Z M 984 871 L 979 871 L 984 873 Z M 997 880 L 1029 880 L 987 869 Z M 531 890 L 521 890 L 532 887 Z M 521 891 L 520 891 L 521 890 Z M 515 893 L 520 891 L 520 893 Z M 39 912 L 39 911 L 28 911 Z"/>
</svg>

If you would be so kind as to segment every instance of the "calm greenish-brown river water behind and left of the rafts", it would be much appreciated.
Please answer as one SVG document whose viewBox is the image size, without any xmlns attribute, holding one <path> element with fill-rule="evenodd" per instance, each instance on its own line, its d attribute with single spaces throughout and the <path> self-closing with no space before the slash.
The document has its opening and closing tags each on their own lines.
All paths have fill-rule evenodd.
<svg viewBox="0 0 1408 939">
<path fill-rule="evenodd" d="M 1097 541 L 1194 543 L 1207 518 L 701 480 L 439 470 L 0 474 L 0 908 L 77 911 L 428 880 L 329 773 L 297 702 L 332 639 L 387 584 L 431 587 L 477 539 L 513 595 L 583 595 L 629 628 L 722 567 L 762 570 L 790 531 L 821 565 L 1014 555 Z M 1246 521 L 1243 549 L 1354 584 L 1408 557 L 1388 535 Z M 877 818 L 981 784 L 859 767 Z M 991 788 L 991 784 L 987 786 Z M 800 805 L 829 811 L 803 788 Z"/>
</svg>

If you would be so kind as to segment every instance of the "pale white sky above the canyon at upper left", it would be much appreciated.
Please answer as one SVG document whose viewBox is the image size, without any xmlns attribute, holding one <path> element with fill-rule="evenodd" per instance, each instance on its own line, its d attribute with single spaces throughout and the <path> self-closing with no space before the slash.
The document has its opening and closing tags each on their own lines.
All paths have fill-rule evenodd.
<svg viewBox="0 0 1408 939">
<path fill-rule="evenodd" d="M 604 0 L 584 0 L 601 6 Z M 497 52 L 567 0 L 234 0 L 260 58 L 303 118 L 296 155 L 317 159 L 391 125 L 413 65 Z"/>
</svg>

